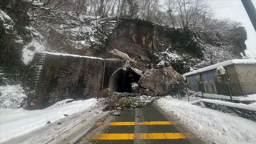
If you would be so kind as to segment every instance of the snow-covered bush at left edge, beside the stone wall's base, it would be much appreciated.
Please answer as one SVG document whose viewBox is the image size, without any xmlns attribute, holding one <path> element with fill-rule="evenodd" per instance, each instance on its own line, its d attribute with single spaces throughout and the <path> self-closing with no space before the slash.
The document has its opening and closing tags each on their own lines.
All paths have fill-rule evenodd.
<svg viewBox="0 0 256 144">
<path fill-rule="evenodd" d="M 27 97 L 25 91 L 18 85 L 0 86 L 0 94 L 1 108 L 20 108 Z"/>
</svg>

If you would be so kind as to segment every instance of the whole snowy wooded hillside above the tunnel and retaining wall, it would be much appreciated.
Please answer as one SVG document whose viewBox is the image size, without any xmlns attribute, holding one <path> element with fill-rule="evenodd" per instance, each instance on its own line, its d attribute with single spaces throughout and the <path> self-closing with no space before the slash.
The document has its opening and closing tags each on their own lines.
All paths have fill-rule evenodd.
<svg viewBox="0 0 256 144">
<path fill-rule="evenodd" d="M 115 58 L 118 49 L 181 74 L 245 56 L 242 23 L 214 18 L 203 0 L 2 0 L 0 9 L 1 85 L 27 87 L 40 51 Z"/>
</svg>

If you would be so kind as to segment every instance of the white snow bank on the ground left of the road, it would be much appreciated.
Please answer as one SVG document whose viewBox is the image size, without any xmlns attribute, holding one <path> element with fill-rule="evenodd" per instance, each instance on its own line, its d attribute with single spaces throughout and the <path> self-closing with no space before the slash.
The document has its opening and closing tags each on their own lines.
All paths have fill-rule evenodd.
<svg viewBox="0 0 256 144">
<path fill-rule="evenodd" d="M 0 142 L 4 142 L 47 124 L 47 121 L 57 121 L 65 118 L 64 114 L 71 115 L 81 110 L 90 110 L 97 105 L 97 99 L 78 100 L 71 103 L 66 99 L 43 109 L 27 111 L 23 108 L 2 109 L 0 112 Z"/>
</svg>

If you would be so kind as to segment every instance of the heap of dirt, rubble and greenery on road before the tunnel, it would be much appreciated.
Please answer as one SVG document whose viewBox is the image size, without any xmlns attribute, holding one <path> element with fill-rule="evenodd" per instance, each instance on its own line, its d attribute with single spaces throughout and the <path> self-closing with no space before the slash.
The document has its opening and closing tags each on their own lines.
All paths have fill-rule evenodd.
<svg viewBox="0 0 256 144">
<path fill-rule="evenodd" d="M 111 110 L 122 110 L 129 111 L 135 108 L 143 108 L 145 106 L 151 105 L 155 100 L 159 99 L 159 96 L 148 96 L 142 95 L 142 93 L 119 93 L 113 92 L 108 97 L 99 98 L 100 104 L 107 105 L 103 111 Z"/>
</svg>

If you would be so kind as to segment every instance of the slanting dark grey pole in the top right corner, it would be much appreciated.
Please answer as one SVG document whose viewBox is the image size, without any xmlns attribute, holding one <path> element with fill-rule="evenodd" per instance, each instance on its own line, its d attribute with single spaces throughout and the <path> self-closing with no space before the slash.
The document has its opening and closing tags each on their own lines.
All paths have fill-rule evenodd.
<svg viewBox="0 0 256 144">
<path fill-rule="evenodd" d="M 256 32 L 256 9 L 251 0 L 241 0 Z"/>
</svg>

